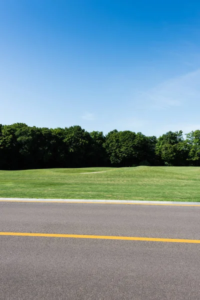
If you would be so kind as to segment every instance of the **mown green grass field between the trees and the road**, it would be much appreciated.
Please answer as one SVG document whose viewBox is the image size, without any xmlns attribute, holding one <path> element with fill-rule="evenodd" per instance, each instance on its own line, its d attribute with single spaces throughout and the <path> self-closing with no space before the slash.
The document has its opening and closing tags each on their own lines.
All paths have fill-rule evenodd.
<svg viewBox="0 0 200 300">
<path fill-rule="evenodd" d="M 200 167 L 1 170 L 0 197 L 200 201 Z"/>
</svg>

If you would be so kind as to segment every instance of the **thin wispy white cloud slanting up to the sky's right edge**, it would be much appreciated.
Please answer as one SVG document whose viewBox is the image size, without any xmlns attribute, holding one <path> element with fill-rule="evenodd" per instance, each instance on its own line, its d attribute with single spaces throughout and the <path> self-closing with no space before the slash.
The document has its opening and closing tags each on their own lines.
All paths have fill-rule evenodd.
<svg viewBox="0 0 200 300">
<path fill-rule="evenodd" d="M 137 108 L 167 109 L 200 99 L 200 69 L 171 78 L 137 95 Z"/>
</svg>

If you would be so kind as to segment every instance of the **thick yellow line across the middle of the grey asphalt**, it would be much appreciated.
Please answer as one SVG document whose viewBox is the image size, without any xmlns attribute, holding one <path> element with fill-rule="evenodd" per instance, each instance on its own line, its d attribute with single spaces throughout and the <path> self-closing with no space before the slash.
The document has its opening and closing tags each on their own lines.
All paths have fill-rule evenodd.
<svg viewBox="0 0 200 300">
<path fill-rule="evenodd" d="M 112 236 L 112 235 L 110 236 L 110 235 L 56 234 L 56 233 L 29 233 L 29 232 L 0 232 L 0 235 L 94 238 L 94 239 L 122 239 L 122 240 L 141 240 L 141 241 L 200 243 L 200 239 L 156 238 L 156 237 Z"/>
</svg>

